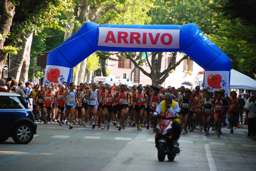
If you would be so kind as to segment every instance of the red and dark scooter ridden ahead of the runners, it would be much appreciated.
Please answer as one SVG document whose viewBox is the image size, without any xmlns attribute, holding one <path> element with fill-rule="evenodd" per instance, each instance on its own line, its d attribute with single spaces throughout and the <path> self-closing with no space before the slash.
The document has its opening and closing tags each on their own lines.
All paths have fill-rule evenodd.
<svg viewBox="0 0 256 171">
<path fill-rule="evenodd" d="M 179 145 L 177 145 L 176 148 L 174 147 L 174 139 L 172 138 L 172 121 L 170 120 L 176 117 L 176 115 L 169 112 L 157 115 L 158 121 L 155 128 L 155 143 L 158 150 L 157 157 L 160 162 L 163 162 L 166 154 L 170 161 L 173 161 L 175 156 L 180 154 Z"/>
</svg>

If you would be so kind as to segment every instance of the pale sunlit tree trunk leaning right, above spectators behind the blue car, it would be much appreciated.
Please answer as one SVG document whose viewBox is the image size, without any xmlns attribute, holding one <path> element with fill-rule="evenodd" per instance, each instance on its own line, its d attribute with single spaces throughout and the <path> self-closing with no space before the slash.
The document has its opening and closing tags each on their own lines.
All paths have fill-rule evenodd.
<svg viewBox="0 0 256 171">
<path fill-rule="evenodd" d="M 14 77 L 17 81 L 20 80 L 20 72 L 23 67 L 23 62 L 26 57 L 26 53 L 30 52 L 31 44 L 32 44 L 32 38 L 33 38 L 33 32 L 25 31 L 25 34 L 19 34 L 18 36 L 22 41 L 17 42 L 15 47 L 21 47 L 22 49 L 19 51 L 17 55 L 12 55 L 10 60 L 10 73 L 9 76 Z M 30 55 L 29 55 L 30 60 Z M 28 69 L 27 71 L 28 72 Z"/>
</svg>

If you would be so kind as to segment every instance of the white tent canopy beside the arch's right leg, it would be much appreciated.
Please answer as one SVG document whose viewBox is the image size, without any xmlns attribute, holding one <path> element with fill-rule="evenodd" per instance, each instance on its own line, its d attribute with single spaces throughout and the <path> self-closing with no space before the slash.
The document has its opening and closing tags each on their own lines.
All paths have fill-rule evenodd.
<svg viewBox="0 0 256 171">
<path fill-rule="evenodd" d="M 256 81 L 239 71 L 231 69 L 230 88 L 256 90 Z"/>
</svg>

